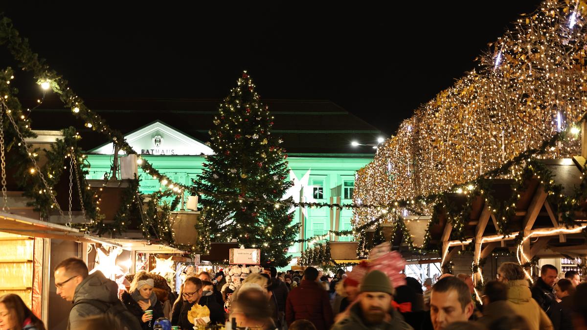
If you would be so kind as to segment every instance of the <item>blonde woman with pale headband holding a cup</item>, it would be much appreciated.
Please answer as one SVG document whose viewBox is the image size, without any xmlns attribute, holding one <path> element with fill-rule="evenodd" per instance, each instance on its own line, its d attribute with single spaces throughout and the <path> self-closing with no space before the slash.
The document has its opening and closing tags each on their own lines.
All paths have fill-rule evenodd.
<svg viewBox="0 0 587 330">
<path fill-rule="evenodd" d="M 150 278 L 147 272 L 140 271 L 134 274 L 129 292 L 122 294 L 124 305 L 139 319 L 143 330 L 153 329 L 155 320 L 163 317 L 163 306 L 157 301 L 153 287 L 153 278 Z"/>
</svg>

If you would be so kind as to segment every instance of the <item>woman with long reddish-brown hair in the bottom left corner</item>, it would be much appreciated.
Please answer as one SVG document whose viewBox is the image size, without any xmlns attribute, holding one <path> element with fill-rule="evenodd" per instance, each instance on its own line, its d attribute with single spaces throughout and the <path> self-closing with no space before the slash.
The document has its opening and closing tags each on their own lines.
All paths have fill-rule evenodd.
<svg viewBox="0 0 587 330">
<path fill-rule="evenodd" d="M 0 297 L 0 329 L 45 330 L 45 325 L 19 295 L 6 294 Z"/>
</svg>

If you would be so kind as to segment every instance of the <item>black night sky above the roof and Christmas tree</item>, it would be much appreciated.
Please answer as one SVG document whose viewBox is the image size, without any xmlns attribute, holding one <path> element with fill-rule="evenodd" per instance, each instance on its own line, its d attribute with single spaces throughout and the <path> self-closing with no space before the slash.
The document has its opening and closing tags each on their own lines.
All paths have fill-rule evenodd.
<svg viewBox="0 0 587 330">
<path fill-rule="evenodd" d="M 329 99 L 393 134 L 539 1 L 11 3 L 5 14 L 83 98 L 220 99 L 247 69 L 262 99 Z M 38 97 L 16 78 L 21 97 Z"/>
</svg>

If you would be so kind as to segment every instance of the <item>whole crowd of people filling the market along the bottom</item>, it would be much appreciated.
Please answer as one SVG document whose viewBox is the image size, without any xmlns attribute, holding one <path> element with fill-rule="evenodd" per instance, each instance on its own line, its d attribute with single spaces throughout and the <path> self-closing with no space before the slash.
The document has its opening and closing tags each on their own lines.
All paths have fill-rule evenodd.
<svg viewBox="0 0 587 330">
<path fill-rule="evenodd" d="M 194 329 L 228 324 L 233 329 L 290 330 L 587 330 L 587 283 L 575 271 L 558 274 L 544 265 L 529 280 L 514 262 L 498 268 L 497 280 L 477 292 L 468 274 L 443 274 L 436 283 L 407 277 L 394 285 L 384 272 L 360 281 L 344 271 L 334 278 L 313 267 L 303 273 L 273 267 L 229 286 L 223 272 L 185 278 L 173 304 L 164 304 L 146 272 L 120 292 L 77 258 L 55 268 L 57 294 L 72 303 L 68 330 Z M 233 282 L 234 284 L 234 282 Z M 423 289 L 424 288 L 424 289 Z M 230 291 L 230 292 L 228 292 Z M 170 299 L 167 299 L 167 301 Z M 205 309 L 203 317 L 192 311 Z M 0 297 L 0 330 L 45 330 L 15 294 Z"/>
</svg>

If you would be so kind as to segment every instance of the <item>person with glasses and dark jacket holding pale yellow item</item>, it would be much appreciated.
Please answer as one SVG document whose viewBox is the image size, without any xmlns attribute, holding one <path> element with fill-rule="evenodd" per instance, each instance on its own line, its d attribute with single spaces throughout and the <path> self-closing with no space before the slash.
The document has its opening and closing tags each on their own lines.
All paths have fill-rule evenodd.
<svg viewBox="0 0 587 330">
<path fill-rule="evenodd" d="M 171 310 L 171 325 L 179 326 L 181 329 L 192 329 L 194 324 L 190 323 L 187 314 L 195 304 L 210 309 L 210 324 L 224 323 L 224 311 L 215 302 L 215 299 L 203 298 L 203 285 L 199 278 L 186 278 L 180 289 L 180 297 L 177 298 Z M 203 319 L 198 318 L 195 322 L 202 326 L 206 325 Z"/>
</svg>

